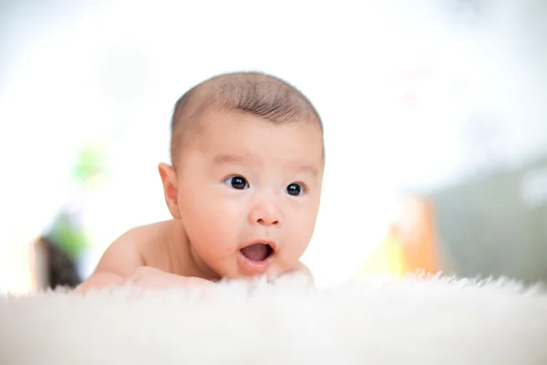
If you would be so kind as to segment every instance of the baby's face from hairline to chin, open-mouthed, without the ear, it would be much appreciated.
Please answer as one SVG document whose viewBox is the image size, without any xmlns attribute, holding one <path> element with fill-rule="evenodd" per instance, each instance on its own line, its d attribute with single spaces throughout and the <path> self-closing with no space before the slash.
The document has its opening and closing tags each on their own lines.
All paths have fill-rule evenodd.
<svg viewBox="0 0 547 365">
<path fill-rule="evenodd" d="M 323 181 L 316 122 L 240 112 L 201 119 L 181 152 L 178 203 L 194 252 L 219 276 L 280 275 L 310 242 Z"/>
</svg>

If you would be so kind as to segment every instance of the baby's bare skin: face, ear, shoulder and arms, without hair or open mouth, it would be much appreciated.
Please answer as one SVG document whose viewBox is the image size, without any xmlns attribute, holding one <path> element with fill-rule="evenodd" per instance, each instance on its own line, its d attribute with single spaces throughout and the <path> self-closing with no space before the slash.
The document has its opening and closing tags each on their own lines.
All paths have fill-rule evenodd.
<svg viewBox="0 0 547 365">
<path fill-rule="evenodd" d="M 177 156 L 177 168 L 159 166 L 173 219 L 121 235 L 77 292 L 125 282 L 199 287 L 221 278 L 294 271 L 311 277 L 299 260 L 319 209 L 324 172 L 319 125 L 274 124 L 226 110 L 207 112 L 199 123 Z M 244 264 L 240 250 L 257 241 L 270 242 L 275 251 L 267 267 L 254 269 Z"/>
</svg>

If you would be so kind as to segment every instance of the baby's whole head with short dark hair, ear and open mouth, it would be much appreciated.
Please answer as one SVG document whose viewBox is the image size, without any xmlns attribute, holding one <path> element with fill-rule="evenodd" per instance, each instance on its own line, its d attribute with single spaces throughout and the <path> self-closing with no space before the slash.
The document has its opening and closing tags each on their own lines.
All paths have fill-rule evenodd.
<svg viewBox="0 0 547 365">
<path fill-rule="evenodd" d="M 279 275 L 297 266 L 315 228 L 325 164 L 312 104 L 279 78 L 210 78 L 178 100 L 166 203 L 205 275 Z M 213 274 L 214 273 L 214 274 Z"/>
</svg>

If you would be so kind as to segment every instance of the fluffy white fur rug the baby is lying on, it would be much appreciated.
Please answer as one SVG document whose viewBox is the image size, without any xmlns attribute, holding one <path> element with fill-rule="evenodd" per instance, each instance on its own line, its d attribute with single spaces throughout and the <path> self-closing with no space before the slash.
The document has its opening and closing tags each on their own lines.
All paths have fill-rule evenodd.
<svg viewBox="0 0 547 365">
<path fill-rule="evenodd" d="M 0 297 L 2 364 L 547 364 L 547 291 L 443 277 Z"/>
</svg>

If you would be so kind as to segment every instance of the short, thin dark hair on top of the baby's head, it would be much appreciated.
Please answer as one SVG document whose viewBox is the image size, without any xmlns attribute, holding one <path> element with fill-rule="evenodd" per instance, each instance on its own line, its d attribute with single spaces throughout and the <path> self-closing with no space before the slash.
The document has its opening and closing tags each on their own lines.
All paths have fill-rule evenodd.
<svg viewBox="0 0 547 365">
<path fill-rule="evenodd" d="M 315 121 L 323 132 L 323 122 L 310 100 L 281 78 L 260 72 L 222 74 L 194 86 L 177 100 L 170 122 L 173 165 L 180 145 L 206 110 L 240 110 L 275 124 Z"/>
</svg>

